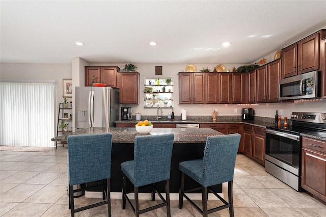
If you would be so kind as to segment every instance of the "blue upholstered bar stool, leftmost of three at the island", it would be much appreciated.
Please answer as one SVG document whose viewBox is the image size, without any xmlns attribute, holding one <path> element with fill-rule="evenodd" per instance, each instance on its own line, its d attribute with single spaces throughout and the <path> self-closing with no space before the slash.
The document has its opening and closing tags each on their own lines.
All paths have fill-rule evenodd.
<svg viewBox="0 0 326 217">
<path fill-rule="evenodd" d="M 75 212 L 107 204 L 108 216 L 111 216 L 110 178 L 111 178 L 112 133 L 83 134 L 68 136 L 68 179 L 69 208 L 71 216 Z M 73 189 L 75 184 L 102 180 L 103 200 L 85 207 L 74 208 L 74 192 L 85 191 L 88 186 Z"/>
</svg>

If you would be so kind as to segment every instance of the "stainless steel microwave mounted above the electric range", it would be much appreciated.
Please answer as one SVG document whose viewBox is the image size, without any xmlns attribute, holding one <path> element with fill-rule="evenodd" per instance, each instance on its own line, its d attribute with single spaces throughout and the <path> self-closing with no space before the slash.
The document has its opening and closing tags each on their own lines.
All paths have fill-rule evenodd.
<svg viewBox="0 0 326 217">
<path fill-rule="evenodd" d="M 319 76 L 319 71 L 312 71 L 281 79 L 279 99 L 314 99 L 320 97 Z"/>
</svg>

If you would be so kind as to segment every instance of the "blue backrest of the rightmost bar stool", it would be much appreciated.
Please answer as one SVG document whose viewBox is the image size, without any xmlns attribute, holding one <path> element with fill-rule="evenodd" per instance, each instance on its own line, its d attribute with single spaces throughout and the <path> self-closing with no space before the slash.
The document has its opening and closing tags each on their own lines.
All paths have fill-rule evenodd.
<svg viewBox="0 0 326 217">
<path fill-rule="evenodd" d="M 238 133 L 207 137 L 203 157 L 204 187 L 233 180 L 240 138 Z"/>
</svg>

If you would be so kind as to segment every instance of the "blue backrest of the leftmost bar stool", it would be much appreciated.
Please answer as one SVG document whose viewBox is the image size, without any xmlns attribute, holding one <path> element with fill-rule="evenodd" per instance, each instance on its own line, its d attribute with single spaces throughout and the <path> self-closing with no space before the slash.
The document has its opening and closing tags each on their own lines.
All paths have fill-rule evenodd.
<svg viewBox="0 0 326 217">
<path fill-rule="evenodd" d="M 70 185 L 111 178 L 112 133 L 68 136 Z"/>
</svg>

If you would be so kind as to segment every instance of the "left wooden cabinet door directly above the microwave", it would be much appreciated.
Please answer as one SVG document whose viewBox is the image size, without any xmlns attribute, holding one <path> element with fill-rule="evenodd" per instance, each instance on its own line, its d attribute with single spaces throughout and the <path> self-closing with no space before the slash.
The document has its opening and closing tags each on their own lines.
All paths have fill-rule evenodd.
<svg viewBox="0 0 326 217">
<path fill-rule="evenodd" d="M 297 44 L 293 44 L 282 50 L 282 78 L 297 74 Z"/>
</svg>

